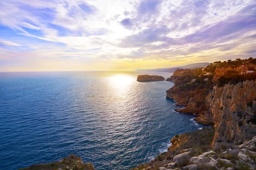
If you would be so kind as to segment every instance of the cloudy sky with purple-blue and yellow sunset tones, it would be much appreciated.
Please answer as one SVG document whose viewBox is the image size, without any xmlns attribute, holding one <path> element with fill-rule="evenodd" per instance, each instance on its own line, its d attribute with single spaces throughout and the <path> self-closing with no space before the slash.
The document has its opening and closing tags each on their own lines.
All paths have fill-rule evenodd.
<svg viewBox="0 0 256 170">
<path fill-rule="evenodd" d="M 134 71 L 256 57 L 256 0 L 0 0 L 0 71 Z"/>
</svg>

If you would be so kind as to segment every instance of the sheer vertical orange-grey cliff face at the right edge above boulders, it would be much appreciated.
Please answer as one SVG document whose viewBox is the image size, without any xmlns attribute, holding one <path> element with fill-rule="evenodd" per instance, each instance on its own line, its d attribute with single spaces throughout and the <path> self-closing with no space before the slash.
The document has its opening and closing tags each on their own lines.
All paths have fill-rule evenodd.
<svg viewBox="0 0 256 170">
<path fill-rule="evenodd" d="M 242 142 L 256 136 L 256 81 L 216 87 L 208 95 L 215 123 L 212 145 Z"/>
</svg>

